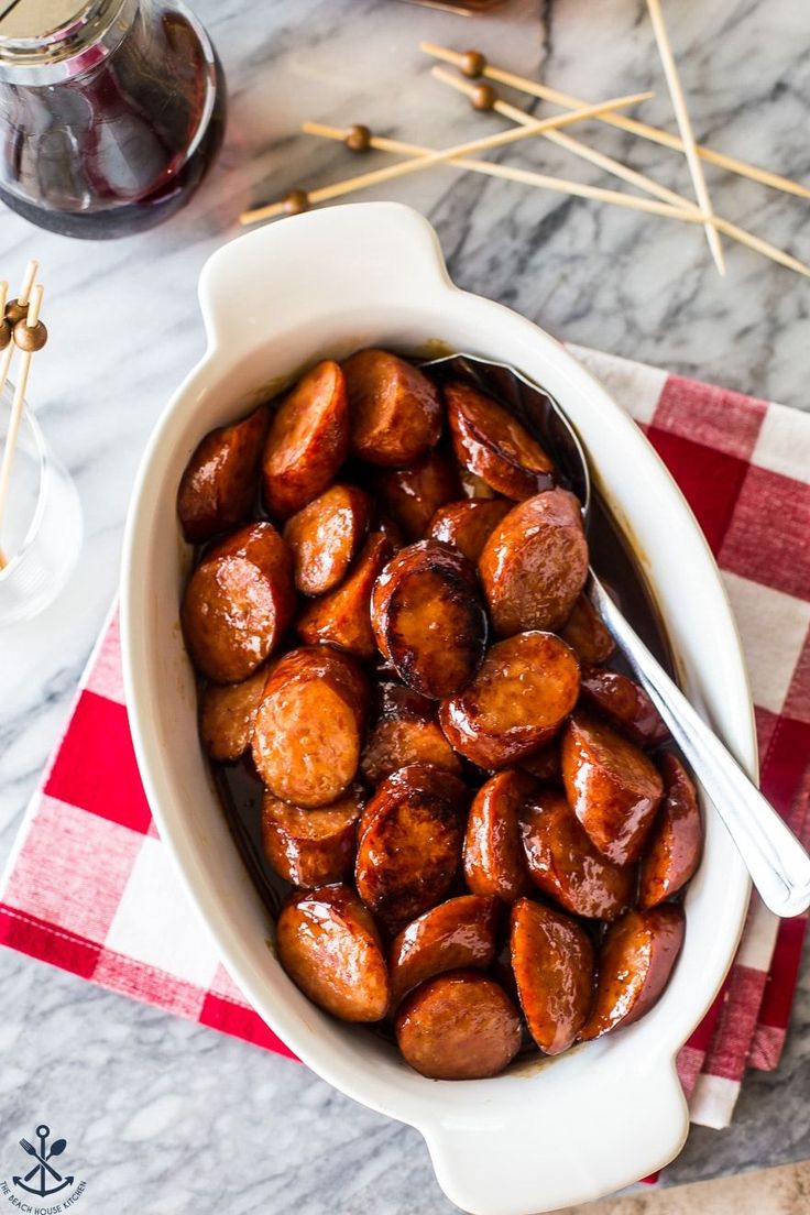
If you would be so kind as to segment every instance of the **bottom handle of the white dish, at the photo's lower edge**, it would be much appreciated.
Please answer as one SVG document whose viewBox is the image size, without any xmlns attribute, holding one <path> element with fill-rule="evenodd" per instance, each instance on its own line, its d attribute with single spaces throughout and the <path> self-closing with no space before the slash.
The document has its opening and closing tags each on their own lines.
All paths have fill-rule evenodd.
<svg viewBox="0 0 810 1215">
<path fill-rule="evenodd" d="M 689 1132 L 674 1062 L 659 1061 L 652 1074 L 644 1066 L 623 1067 L 621 1076 L 608 1074 L 612 1067 L 605 1072 L 589 1089 L 585 1107 L 571 1107 L 567 1087 L 523 1100 L 521 1085 L 532 1080 L 516 1076 L 503 1117 L 498 1108 L 489 1112 L 482 1097 L 438 1124 L 423 1125 L 436 1177 L 451 1202 L 469 1215 L 554 1211 L 628 1185 L 633 1170 L 641 1179 L 668 1164 Z"/>
</svg>

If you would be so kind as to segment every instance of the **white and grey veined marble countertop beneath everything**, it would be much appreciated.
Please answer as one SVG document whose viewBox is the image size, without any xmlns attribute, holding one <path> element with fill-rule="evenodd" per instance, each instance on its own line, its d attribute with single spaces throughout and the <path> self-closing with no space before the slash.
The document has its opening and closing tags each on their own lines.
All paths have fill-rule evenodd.
<svg viewBox="0 0 810 1215">
<path fill-rule="evenodd" d="M 203 349 L 196 301 L 208 255 L 253 200 L 353 173 L 301 119 L 432 145 L 493 129 L 431 80 L 423 38 L 478 44 L 517 72 L 587 97 L 655 89 L 645 117 L 672 125 L 642 0 L 514 0 L 464 19 L 398 0 L 197 0 L 228 77 L 227 142 L 211 177 L 164 227 L 78 243 L 0 216 L 0 267 L 36 255 L 52 340 L 38 356 L 40 419 L 81 497 L 79 570 L 36 621 L 0 637 L 0 849 L 57 736 L 113 598 L 130 485 L 163 402 Z M 669 4 L 699 137 L 810 180 L 810 24 L 794 0 Z M 588 131 L 584 131 L 588 135 Z M 601 128 L 599 147 L 689 191 L 682 162 Z M 550 145 L 510 163 L 601 181 Z M 364 165 L 370 162 L 363 162 Z M 380 156 L 379 163 L 385 163 Z M 806 203 L 708 174 L 720 214 L 810 259 Z M 604 182 L 610 185 L 610 182 Z M 359 197 L 359 196 L 358 196 Z M 559 337 L 810 407 L 808 284 L 727 244 L 720 279 L 699 228 L 435 169 L 363 197 L 409 202 L 436 225 L 457 283 Z M 440 1215 L 451 1204 L 417 1132 L 345 1100 L 298 1064 L 0 956 L 0 1121 L 43 1118 L 80 1143 L 86 1210 Z M 810 976 L 775 1075 L 746 1083 L 731 1130 L 696 1130 L 667 1179 L 696 1180 L 810 1157 Z M 12 1140 L 10 1140 L 12 1142 Z M 0 1153 L 5 1147 L 0 1145 Z"/>
</svg>

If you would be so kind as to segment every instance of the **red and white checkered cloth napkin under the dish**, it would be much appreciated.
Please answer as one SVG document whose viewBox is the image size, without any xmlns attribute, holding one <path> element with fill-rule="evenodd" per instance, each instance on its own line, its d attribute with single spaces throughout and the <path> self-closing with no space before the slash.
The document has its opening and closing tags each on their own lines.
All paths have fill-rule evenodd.
<svg viewBox="0 0 810 1215">
<path fill-rule="evenodd" d="M 810 417 L 574 354 L 647 433 L 712 544 L 748 659 L 763 789 L 808 838 Z M 727 1125 L 746 1068 L 776 1067 L 805 927 L 805 917 L 780 923 L 753 900 L 723 993 L 680 1055 L 692 1121 Z M 154 830 L 130 740 L 115 615 L 0 883 L 0 940 L 290 1053 L 220 965 Z"/>
</svg>

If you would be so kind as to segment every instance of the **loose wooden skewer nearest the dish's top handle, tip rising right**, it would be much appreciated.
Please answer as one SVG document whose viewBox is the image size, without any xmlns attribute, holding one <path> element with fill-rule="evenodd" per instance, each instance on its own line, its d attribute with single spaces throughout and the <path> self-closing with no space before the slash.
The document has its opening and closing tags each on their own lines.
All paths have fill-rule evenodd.
<svg viewBox="0 0 810 1215">
<path fill-rule="evenodd" d="M 454 147 L 443 148 L 438 152 L 430 152 L 424 157 L 401 160 L 398 164 L 389 165 L 386 169 L 376 169 L 373 173 L 361 174 L 358 177 L 350 177 L 346 181 L 338 181 L 332 186 L 323 186 L 321 190 L 313 190 L 308 194 L 308 202 L 325 203 L 330 198 L 339 198 L 341 194 L 349 194 L 355 190 L 364 190 L 368 186 L 376 186 L 384 181 L 392 181 L 395 177 L 403 177 L 410 173 L 419 173 L 421 169 L 427 169 L 434 164 L 446 164 L 448 160 L 455 160 L 459 157 L 468 156 L 472 152 L 486 152 L 489 148 L 517 143 L 520 140 L 525 140 L 534 135 L 542 135 L 543 131 L 553 130 L 556 126 L 570 126 L 573 123 L 582 123 L 587 118 L 595 118 L 599 114 L 604 114 L 605 111 L 634 106 L 639 101 L 646 101 L 650 96 L 651 94 L 648 92 L 641 92 L 633 94 L 629 97 L 613 97 L 612 100 L 602 101 L 596 106 L 584 106 L 582 109 L 570 111 L 567 114 L 555 114 L 553 118 L 533 123 L 532 126 L 512 128 L 509 131 L 499 131 L 497 135 L 489 135 L 486 139 L 471 140 L 466 143 L 457 143 Z M 243 211 L 239 216 L 239 222 L 256 224 L 259 220 L 266 220 L 274 215 L 282 215 L 285 210 L 285 203 L 271 203 L 267 207 L 259 207 L 254 210 Z"/>
</svg>

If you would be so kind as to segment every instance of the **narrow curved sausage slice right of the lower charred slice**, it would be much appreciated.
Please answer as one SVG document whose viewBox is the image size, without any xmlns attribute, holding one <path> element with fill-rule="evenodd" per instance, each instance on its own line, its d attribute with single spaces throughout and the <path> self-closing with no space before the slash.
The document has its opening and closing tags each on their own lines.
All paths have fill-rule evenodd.
<svg viewBox="0 0 810 1215">
<path fill-rule="evenodd" d="M 528 892 L 519 814 L 534 789 L 527 773 L 511 769 L 491 776 L 475 795 L 464 837 L 464 877 L 474 894 L 514 903 Z"/>
</svg>

